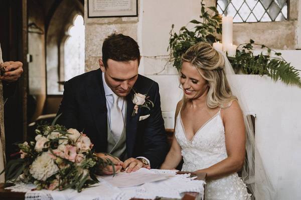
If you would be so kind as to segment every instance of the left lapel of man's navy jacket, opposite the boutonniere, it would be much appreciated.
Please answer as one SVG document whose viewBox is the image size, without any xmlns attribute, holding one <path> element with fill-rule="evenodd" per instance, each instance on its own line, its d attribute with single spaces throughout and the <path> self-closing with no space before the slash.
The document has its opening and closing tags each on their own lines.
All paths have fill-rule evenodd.
<svg viewBox="0 0 301 200">
<path fill-rule="evenodd" d="M 107 108 L 105 93 L 102 83 L 102 72 L 100 69 L 96 70 L 95 75 L 91 81 L 86 84 L 86 92 L 88 102 L 92 113 L 95 126 L 97 128 L 97 135 L 100 136 L 99 141 L 101 150 L 107 148 Z"/>
</svg>

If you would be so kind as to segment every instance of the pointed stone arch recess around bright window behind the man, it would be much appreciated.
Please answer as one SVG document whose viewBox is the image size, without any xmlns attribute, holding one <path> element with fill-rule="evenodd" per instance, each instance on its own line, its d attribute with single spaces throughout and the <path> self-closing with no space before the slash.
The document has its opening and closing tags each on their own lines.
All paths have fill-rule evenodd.
<svg viewBox="0 0 301 200">
<path fill-rule="evenodd" d="M 65 43 L 79 15 L 84 16 L 84 6 L 79 1 L 63 0 L 51 17 L 46 35 L 47 95 L 63 94 L 63 83 L 66 81 Z"/>
</svg>

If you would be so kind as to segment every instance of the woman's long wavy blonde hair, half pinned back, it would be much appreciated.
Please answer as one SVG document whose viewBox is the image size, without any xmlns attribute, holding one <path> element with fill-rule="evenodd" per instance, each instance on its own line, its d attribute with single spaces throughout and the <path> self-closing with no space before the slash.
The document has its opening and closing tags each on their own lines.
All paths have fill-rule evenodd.
<svg viewBox="0 0 301 200">
<path fill-rule="evenodd" d="M 227 107 L 233 100 L 237 100 L 232 95 L 225 75 L 224 58 L 209 43 L 199 42 L 191 46 L 182 55 L 182 62 L 191 63 L 207 80 L 209 90 L 206 103 L 208 107 Z"/>
</svg>

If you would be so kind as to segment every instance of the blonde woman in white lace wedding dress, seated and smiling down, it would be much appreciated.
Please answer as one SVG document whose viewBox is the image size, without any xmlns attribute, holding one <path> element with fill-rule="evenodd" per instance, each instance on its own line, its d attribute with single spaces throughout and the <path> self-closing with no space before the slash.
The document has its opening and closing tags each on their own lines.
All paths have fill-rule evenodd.
<svg viewBox="0 0 301 200">
<path fill-rule="evenodd" d="M 238 176 L 245 159 L 245 126 L 224 70 L 224 57 L 208 43 L 182 56 L 184 98 L 175 116 L 175 137 L 162 169 L 207 172 L 205 199 L 250 199 Z"/>
</svg>

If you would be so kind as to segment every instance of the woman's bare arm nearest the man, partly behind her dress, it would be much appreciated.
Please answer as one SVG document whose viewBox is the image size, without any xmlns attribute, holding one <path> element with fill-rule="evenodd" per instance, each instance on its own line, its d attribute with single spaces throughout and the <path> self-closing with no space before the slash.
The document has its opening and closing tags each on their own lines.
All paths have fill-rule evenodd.
<svg viewBox="0 0 301 200">
<path fill-rule="evenodd" d="M 182 106 L 182 100 L 180 100 L 177 104 L 176 113 L 175 113 L 175 127 L 177 122 L 177 116 Z M 168 152 L 163 164 L 161 165 L 161 169 L 172 169 L 176 168 L 178 164 L 182 160 L 182 154 L 181 154 L 181 146 L 178 143 L 175 133 L 173 136 L 173 142 L 170 151 Z"/>
</svg>

